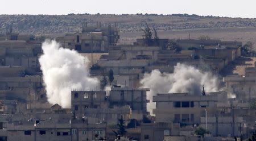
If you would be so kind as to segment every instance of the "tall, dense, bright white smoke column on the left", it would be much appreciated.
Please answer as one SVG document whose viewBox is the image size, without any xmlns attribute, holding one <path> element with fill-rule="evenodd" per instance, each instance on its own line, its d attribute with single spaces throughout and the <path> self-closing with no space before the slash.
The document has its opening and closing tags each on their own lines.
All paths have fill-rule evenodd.
<svg viewBox="0 0 256 141">
<path fill-rule="evenodd" d="M 86 57 L 75 50 L 60 47 L 55 40 L 46 40 L 42 49 L 39 63 L 49 103 L 70 108 L 72 89 L 98 88 L 97 78 L 89 76 Z"/>
</svg>

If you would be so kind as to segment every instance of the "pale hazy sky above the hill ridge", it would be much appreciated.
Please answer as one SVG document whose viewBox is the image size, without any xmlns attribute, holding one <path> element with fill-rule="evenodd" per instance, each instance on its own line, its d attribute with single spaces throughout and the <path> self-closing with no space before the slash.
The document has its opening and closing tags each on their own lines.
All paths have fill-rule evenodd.
<svg viewBox="0 0 256 141">
<path fill-rule="evenodd" d="M 14 4 L 15 3 L 15 4 Z M 154 0 L 118 1 L 118 0 L 23 0 L 5 1 L 0 14 L 49 14 L 61 15 L 69 13 L 90 14 L 197 14 L 256 18 L 256 2 L 253 0 L 204 1 L 204 0 Z M 10 8 L 12 7 L 12 8 Z"/>
</svg>

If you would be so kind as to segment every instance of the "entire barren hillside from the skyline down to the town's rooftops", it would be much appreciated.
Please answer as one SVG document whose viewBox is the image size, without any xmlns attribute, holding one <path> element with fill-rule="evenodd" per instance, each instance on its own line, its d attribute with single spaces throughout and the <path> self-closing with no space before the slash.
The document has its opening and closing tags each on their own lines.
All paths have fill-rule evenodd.
<svg viewBox="0 0 256 141">
<path fill-rule="evenodd" d="M 208 35 L 212 39 L 237 40 L 256 43 L 256 19 L 228 18 L 218 16 L 173 15 L 0 15 L 0 33 L 13 26 L 20 34 L 57 36 L 67 32 L 80 32 L 82 22 L 88 26 L 108 26 L 117 22 L 122 44 L 132 44 L 142 37 L 142 28 L 147 21 L 155 27 L 160 38 L 196 39 Z"/>
</svg>

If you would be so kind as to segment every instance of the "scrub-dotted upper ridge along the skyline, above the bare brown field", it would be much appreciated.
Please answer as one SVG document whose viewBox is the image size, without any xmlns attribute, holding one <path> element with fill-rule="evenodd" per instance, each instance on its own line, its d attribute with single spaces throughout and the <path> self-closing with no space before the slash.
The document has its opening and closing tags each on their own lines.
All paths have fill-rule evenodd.
<svg viewBox="0 0 256 141">
<path fill-rule="evenodd" d="M 121 32 L 138 32 L 144 28 L 143 20 L 147 20 L 156 31 L 187 30 L 198 28 L 234 28 L 256 27 L 254 19 L 220 18 L 218 16 L 199 16 L 188 14 L 68 14 L 68 15 L 0 15 L 0 31 L 5 33 L 10 24 L 14 32 L 20 34 L 60 34 L 65 32 L 80 32 L 82 22 L 88 25 L 98 21 L 98 16 L 105 21 L 103 24 L 118 22 Z M 129 18 L 129 20 L 127 20 Z M 221 19 L 221 20 L 220 20 Z"/>
</svg>

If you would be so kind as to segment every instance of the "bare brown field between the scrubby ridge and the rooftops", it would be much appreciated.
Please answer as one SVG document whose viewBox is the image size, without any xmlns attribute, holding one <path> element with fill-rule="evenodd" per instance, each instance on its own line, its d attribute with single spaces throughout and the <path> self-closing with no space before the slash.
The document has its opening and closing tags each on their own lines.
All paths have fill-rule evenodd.
<svg viewBox="0 0 256 141">
<path fill-rule="evenodd" d="M 142 32 L 120 33 L 120 44 L 132 44 L 136 38 L 142 38 Z M 160 38 L 169 39 L 197 39 L 201 35 L 208 35 L 211 39 L 237 40 L 244 44 L 248 41 L 253 42 L 256 47 L 256 28 L 223 28 L 223 29 L 198 29 L 198 30 L 175 30 L 158 31 Z"/>
</svg>

